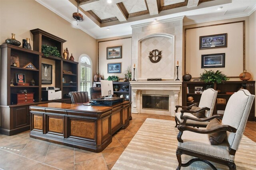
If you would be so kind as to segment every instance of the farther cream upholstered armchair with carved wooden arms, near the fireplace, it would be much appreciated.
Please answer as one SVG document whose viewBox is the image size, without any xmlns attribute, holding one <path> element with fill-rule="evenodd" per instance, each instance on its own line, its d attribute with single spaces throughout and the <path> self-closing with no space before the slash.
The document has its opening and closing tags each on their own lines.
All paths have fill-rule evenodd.
<svg viewBox="0 0 256 170">
<path fill-rule="evenodd" d="M 175 122 L 176 126 L 178 124 L 182 125 L 187 125 L 187 126 L 193 126 L 193 127 L 206 127 L 208 125 L 208 121 L 204 121 L 204 119 L 211 117 L 213 110 L 214 110 L 214 105 L 216 102 L 216 97 L 217 97 L 218 91 L 209 88 L 203 91 L 199 105 L 196 103 L 184 107 L 184 106 L 179 106 L 176 105 L 176 114 L 175 114 Z M 198 107 L 197 107 L 198 106 Z M 180 112 L 178 112 L 178 109 L 182 108 Z M 190 110 L 186 110 L 190 109 Z M 194 119 L 200 119 L 200 121 L 194 121 L 192 119 L 189 119 L 184 122 L 183 116 L 189 116 Z"/>
</svg>

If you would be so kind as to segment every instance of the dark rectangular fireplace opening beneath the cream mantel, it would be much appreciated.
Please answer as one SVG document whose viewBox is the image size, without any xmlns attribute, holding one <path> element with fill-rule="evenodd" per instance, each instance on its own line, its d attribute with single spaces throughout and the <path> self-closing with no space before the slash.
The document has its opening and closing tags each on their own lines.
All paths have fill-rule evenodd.
<svg viewBox="0 0 256 170">
<path fill-rule="evenodd" d="M 169 111 L 169 95 L 142 95 L 142 109 Z"/>
</svg>

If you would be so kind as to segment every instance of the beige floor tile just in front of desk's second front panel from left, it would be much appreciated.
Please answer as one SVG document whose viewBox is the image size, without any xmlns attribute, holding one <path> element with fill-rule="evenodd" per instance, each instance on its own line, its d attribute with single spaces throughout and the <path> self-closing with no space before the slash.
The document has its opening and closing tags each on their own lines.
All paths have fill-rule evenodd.
<svg viewBox="0 0 256 170">
<path fill-rule="evenodd" d="M 50 145 L 50 148 L 46 154 L 44 163 L 62 160 L 64 158 L 70 158 L 70 157 L 73 157 L 73 162 L 74 162 L 74 148 Z"/>
</svg>

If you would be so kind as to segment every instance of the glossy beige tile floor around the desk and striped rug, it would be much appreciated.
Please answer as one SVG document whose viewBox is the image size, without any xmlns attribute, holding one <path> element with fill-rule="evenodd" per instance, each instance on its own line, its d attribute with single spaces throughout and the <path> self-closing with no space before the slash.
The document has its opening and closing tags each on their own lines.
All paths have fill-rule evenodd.
<svg viewBox="0 0 256 170">
<path fill-rule="evenodd" d="M 54 144 L 29 137 L 29 131 L 0 134 L 0 168 L 3 170 L 110 170 L 146 118 L 174 121 L 174 117 L 132 114 L 129 127 L 113 136 L 100 153 Z M 244 134 L 256 142 L 256 122 L 248 122 Z"/>
</svg>

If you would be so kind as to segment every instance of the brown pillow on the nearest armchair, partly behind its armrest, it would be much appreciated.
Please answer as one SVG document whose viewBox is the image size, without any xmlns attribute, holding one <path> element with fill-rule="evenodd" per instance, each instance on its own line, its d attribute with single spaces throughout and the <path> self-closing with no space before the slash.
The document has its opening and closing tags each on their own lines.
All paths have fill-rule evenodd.
<svg viewBox="0 0 256 170">
<path fill-rule="evenodd" d="M 212 119 L 210 123 L 207 125 L 206 129 L 214 128 L 221 125 L 220 121 L 218 119 Z M 219 131 L 208 134 L 209 141 L 211 145 L 217 145 L 221 144 L 223 140 L 226 138 L 227 132 L 226 131 Z"/>
</svg>

